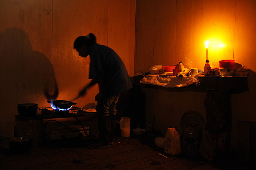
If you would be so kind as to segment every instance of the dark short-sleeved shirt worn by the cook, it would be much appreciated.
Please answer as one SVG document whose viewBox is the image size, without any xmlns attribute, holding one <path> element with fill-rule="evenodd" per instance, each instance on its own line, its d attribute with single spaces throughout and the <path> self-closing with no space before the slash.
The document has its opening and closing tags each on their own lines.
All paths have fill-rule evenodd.
<svg viewBox="0 0 256 170">
<path fill-rule="evenodd" d="M 113 49 L 94 44 L 89 49 L 89 79 L 102 79 L 102 93 L 114 95 L 132 88 L 127 69 Z"/>
</svg>

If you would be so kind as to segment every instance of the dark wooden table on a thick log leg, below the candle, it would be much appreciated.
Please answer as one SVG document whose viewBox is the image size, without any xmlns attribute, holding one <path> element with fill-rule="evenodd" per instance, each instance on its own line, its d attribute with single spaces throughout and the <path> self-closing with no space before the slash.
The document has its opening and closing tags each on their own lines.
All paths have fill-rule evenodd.
<svg viewBox="0 0 256 170">
<path fill-rule="evenodd" d="M 230 152 L 231 132 L 231 95 L 249 90 L 247 78 L 244 77 L 199 77 L 199 82 L 181 88 L 165 88 L 150 84 L 142 87 L 182 92 L 206 92 L 206 130 L 215 144 L 215 156 Z"/>
</svg>

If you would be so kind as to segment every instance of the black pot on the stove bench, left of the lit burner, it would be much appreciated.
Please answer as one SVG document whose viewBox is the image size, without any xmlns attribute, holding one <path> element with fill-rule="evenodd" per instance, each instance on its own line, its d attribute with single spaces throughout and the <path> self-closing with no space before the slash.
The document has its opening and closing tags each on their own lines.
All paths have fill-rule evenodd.
<svg viewBox="0 0 256 170">
<path fill-rule="evenodd" d="M 18 113 L 22 116 L 35 116 L 37 114 L 36 103 L 23 103 L 18 104 Z"/>
</svg>

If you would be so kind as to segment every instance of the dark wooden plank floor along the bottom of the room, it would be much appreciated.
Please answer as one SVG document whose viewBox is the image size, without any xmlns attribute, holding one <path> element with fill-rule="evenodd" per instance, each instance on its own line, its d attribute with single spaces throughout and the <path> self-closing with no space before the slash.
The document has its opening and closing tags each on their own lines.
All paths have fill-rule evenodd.
<svg viewBox="0 0 256 170">
<path fill-rule="evenodd" d="M 115 137 L 109 148 L 90 149 L 90 139 L 52 141 L 30 151 L 15 154 L 0 149 L 0 170 L 249 170 L 232 159 L 221 160 L 212 165 L 199 156 L 182 154 L 171 156 L 154 143 L 154 135 L 131 135 Z M 169 159 L 157 155 L 157 151 Z M 253 168 L 252 168 L 253 169 Z M 255 170 L 255 169 L 253 169 Z"/>
</svg>

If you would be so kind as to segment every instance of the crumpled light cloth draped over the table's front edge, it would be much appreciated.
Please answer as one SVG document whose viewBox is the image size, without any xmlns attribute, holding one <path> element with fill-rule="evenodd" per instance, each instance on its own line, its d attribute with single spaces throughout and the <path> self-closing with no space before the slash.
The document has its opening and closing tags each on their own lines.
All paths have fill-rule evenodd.
<svg viewBox="0 0 256 170">
<path fill-rule="evenodd" d="M 162 76 L 146 75 L 140 81 L 142 84 L 153 84 L 162 87 L 184 87 L 199 82 L 198 75 L 195 76 Z"/>
</svg>

